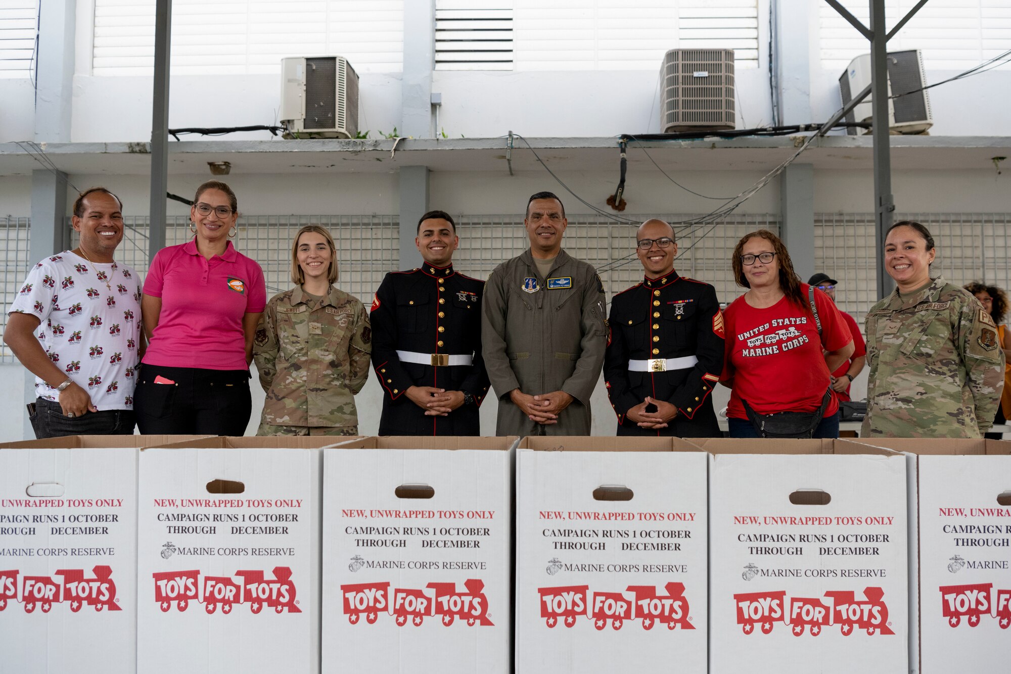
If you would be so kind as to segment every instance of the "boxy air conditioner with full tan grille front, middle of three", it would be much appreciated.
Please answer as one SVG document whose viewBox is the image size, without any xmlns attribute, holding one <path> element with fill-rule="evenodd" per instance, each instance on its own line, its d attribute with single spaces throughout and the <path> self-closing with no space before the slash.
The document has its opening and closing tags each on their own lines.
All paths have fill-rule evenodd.
<svg viewBox="0 0 1011 674">
<path fill-rule="evenodd" d="M 733 50 L 670 50 L 660 79 L 664 133 L 736 126 Z"/>
</svg>

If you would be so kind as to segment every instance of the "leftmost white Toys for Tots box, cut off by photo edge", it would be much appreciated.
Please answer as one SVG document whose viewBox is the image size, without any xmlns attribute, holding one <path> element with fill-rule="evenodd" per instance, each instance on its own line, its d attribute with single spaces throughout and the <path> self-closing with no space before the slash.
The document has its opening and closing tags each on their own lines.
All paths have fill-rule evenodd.
<svg viewBox="0 0 1011 674">
<path fill-rule="evenodd" d="M 0 672 L 134 672 L 136 447 L 0 446 Z"/>
</svg>

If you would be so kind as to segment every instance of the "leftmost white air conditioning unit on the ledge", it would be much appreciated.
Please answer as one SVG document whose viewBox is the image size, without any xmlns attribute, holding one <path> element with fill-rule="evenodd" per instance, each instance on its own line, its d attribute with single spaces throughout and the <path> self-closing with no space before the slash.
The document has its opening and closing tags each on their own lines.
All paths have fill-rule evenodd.
<svg viewBox="0 0 1011 674">
<path fill-rule="evenodd" d="M 358 74 L 344 57 L 281 59 L 281 110 L 286 138 L 358 135 Z"/>
</svg>

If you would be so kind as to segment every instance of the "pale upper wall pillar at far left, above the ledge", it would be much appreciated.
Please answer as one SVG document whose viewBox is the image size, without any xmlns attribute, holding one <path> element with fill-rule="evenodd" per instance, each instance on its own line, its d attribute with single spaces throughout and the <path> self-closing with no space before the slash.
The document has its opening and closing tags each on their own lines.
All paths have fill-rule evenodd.
<svg viewBox="0 0 1011 674">
<path fill-rule="evenodd" d="M 35 78 L 35 142 L 70 142 L 77 0 L 41 3 Z"/>
</svg>

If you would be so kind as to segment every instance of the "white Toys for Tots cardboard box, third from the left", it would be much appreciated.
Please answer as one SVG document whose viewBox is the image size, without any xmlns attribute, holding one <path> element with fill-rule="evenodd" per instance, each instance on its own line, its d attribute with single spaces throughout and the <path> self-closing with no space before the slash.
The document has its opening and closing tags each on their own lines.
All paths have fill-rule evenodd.
<svg viewBox="0 0 1011 674">
<path fill-rule="evenodd" d="M 511 671 L 516 440 L 324 452 L 324 671 Z"/>
</svg>

